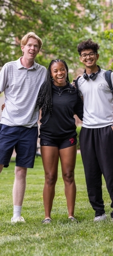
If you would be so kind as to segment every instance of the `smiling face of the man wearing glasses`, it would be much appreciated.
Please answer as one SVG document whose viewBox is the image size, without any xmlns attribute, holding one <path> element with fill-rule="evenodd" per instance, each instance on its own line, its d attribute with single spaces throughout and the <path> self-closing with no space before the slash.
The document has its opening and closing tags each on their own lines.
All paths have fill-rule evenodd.
<svg viewBox="0 0 113 256">
<path fill-rule="evenodd" d="M 90 54 L 90 53 L 93 53 L 92 49 L 83 50 L 81 52 L 81 55 L 82 54 Z M 98 58 L 99 58 L 98 54 L 94 54 L 93 57 L 88 55 L 88 56 L 86 56 L 85 59 L 83 59 L 82 56 L 80 56 L 80 60 L 85 65 L 86 69 L 87 68 L 93 68 L 93 67 L 97 66 L 96 62 L 97 62 Z"/>
</svg>

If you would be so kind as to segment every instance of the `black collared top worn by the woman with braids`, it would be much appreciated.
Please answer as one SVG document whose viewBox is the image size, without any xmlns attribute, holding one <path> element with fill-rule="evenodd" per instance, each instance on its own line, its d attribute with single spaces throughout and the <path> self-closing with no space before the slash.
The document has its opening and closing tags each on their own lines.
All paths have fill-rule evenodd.
<svg viewBox="0 0 113 256">
<path fill-rule="evenodd" d="M 39 137 L 66 139 L 77 135 L 74 114 L 82 120 L 83 103 L 77 90 L 70 83 L 63 88 L 52 84 L 52 114 L 48 110 L 42 113 Z"/>
</svg>

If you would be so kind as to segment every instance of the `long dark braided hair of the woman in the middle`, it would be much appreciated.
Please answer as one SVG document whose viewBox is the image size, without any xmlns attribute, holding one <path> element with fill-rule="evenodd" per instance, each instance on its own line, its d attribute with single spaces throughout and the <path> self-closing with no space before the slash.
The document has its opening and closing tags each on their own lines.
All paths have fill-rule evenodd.
<svg viewBox="0 0 113 256">
<path fill-rule="evenodd" d="M 36 101 L 36 106 L 35 108 L 37 108 L 37 106 L 39 105 L 40 110 L 42 110 L 43 113 L 46 112 L 46 110 L 48 109 L 49 114 L 51 115 L 52 113 L 52 76 L 51 76 L 51 65 L 55 62 L 60 62 L 62 61 L 65 64 L 65 68 L 67 71 L 67 77 L 66 77 L 66 82 L 70 82 L 69 81 L 69 77 L 68 77 L 68 66 L 66 64 L 66 62 L 64 60 L 60 60 L 60 59 L 56 59 L 56 60 L 52 60 L 48 66 L 48 71 L 47 71 L 47 81 L 44 82 L 41 85 L 40 91 L 39 91 L 39 95 L 38 95 L 38 99 Z"/>
</svg>

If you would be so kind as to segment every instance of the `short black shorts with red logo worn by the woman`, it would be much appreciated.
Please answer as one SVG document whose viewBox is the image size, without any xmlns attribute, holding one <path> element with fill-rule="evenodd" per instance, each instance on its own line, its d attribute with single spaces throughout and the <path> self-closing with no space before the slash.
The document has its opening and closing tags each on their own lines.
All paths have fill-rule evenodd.
<svg viewBox="0 0 113 256">
<path fill-rule="evenodd" d="M 56 146 L 59 149 L 63 149 L 63 148 L 77 144 L 76 136 L 69 137 L 68 139 L 64 139 L 64 138 L 50 139 L 42 135 L 39 137 L 40 137 L 40 146 Z"/>
</svg>

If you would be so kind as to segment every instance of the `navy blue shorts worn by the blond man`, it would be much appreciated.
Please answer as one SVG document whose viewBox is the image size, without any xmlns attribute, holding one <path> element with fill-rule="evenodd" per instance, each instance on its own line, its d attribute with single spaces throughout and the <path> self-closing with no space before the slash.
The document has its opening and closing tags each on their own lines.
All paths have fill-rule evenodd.
<svg viewBox="0 0 113 256">
<path fill-rule="evenodd" d="M 38 127 L 0 124 L 0 164 L 8 167 L 15 147 L 16 166 L 33 168 L 37 149 Z"/>
</svg>

